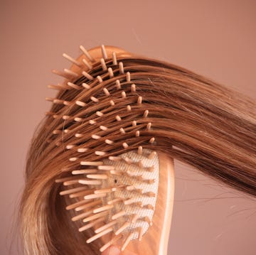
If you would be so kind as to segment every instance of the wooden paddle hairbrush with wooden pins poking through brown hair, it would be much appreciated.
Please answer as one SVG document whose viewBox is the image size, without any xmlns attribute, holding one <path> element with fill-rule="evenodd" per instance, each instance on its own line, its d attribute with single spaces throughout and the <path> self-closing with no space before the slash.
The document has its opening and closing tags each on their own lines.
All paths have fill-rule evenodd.
<svg viewBox="0 0 256 255">
<path fill-rule="evenodd" d="M 80 50 L 78 59 L 63 54 L 73 65 L 53 70 L 65 81 L 49 86 L 60 90 L 58 97 L 46 98 L 53 102 L 47 114 L 59 121 L 48 143 L 72 155 L 56 180 L 63 184 L 60 195 L 78 231 L 88 232 L 85 242 L 97 241 L 100 252 L 114 244 L 136 254 L 167 254 L 174 163 L 154 151 L 151 112 L 125 68 L 134 55 L 104 45 Z"/>
</svg>

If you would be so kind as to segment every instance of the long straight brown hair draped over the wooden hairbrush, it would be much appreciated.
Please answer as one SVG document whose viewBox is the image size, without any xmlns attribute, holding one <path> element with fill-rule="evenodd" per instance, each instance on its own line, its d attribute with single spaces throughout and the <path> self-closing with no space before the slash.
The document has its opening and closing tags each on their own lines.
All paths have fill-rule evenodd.
<svg viewBox="0 0 256 255">
<path fill-rule="evenodd" d="M 63 185 L 55 183 L 58 178 L 70 180 L 70 169 L 80 167 L 78 161 L 70 158 L 95 161 L 142 144 L 187 163 L 220 183 L 256 196 L 255 102 L 170 63 L 138 56 L 119 61 L 124 65 L 124 74 L 109 60 L 106 63 L 112 67 L 114 77 L 95 63 L 89 73 L 92 77 L 100 75 L 102 82 L 81 75 L 73 81 L 74 88 L 63 85 L 33 136 L 21 200 L 25 254 L 98 254 L 100 242 L 86 244 L 85 237 L 90 232 L 78 232 L 79 222 L 71 222 L 73 212 L 65 210 L 72 199 L 60 196 Z M 116 87 L 117 79 L 121 89 Z M 90 89 L 82 87 L 85 82 Z M 136 92 L 131 92 L 132 84 L 136 85 Z M 115 105 L 110 104 L 104 87 Z M 121 91 L 126 92 L 125 99 Z M 94 102 L 91 97 L 99 101 Z M 137 104 L 138 97 L 142 97 L 142 104 Z M 87 104 L 81 107 L 77 101 Z M 132 111 L 126 111 L 127 105 Z M 145 110 L 149 116 L 142 118 Z M 97 111 L 104 115 L 97 117 Z M 115 121 L 117 115 L 122 121 Z M 92 119 L 97 122 L 92 124 Z M 131 127 L 133 120 L 137 120 L 137 126 Z M 146 129 L 149 123 L 151 129 Z M 97 134 L 114 141 L 106 156 L 95 155 L 95 151 L 105 150 L 103 138 L 90 139 L 100 125 L 108 129 Z M 126 133 L 120 135 L 120 128 Z M 140 136 L 134 137 L 137 130 Z M 75 137 L 78 133 L 82 136 Z M 155 139 L 153 144 L 148 142 L 151 137 Z M 128 148 L 123 148 L 124 141 Z M 78 153 L 73 146 L 90 150 Z"/>
</svg>

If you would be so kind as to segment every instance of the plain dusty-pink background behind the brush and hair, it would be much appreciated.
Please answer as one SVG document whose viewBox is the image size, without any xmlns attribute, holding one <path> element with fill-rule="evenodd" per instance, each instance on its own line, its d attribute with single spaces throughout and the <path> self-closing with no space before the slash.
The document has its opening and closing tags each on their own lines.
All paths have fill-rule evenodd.
<svg viewBox="0 0 256 255">
<path fill-rule="evenodd" d="M 0 254 L 18 250 L 15 214 L 26 151 L 50 104 L 50 70 L 68 67 L 79 45 L 104 43 L 167 60 L 256 98 L 256 2 L 0 2 Z M 172 255 L 256 254 L 255 199 L 176 162 Z M 12 236 L 14 234 L 14 237 Z"/>
</svg>

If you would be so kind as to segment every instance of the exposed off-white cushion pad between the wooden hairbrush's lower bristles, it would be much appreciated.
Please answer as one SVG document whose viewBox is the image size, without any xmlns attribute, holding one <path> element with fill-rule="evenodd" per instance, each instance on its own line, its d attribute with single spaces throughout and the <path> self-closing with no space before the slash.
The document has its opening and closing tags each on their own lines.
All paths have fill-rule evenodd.
<svg viewBox="0 0 256 255">
<path fill-rule="evenodd" d="M 141 202 L 141 206 L 139 206 L 138 203 L 133 203 L 131 205 L 124 205 L 124 202 L 114 203 L 114 208 L 110 210 L 109 214 L 110 222 L 112 221 L 112 215 L 121 212 L 122 210 L 125 211 L 125 215 L 118 218 L 118 224 L 114 225 L 114 232 L 116 232 L 119 227 L 122 227 L 125 222 L 130 222 L 129 227 L 122 233 L 127 235 L 134 232 L 132 239 L 137 239 L 139 237 L 138 229 L 140 227 L 142 228 L 142 234 L 145 234 L 149 228 L 149 222 L 146 222 L 144 217 L 148 217 L 149 221 L 152 222 L 154 209 L 148 209 L 143 206 L 151 205 L 153 208 L 156 207 L 159 187 L 159 158 L 156 154 L 153 158 L 149 159 L 148 157 L 151 153 L 152 151 L 149 149 L 143 149 L 142 155 L 139 155 L 137 151 L 129 151 L 128 153 L 119 155 L 123 158 L 122 161 L 110 161 L 109 159 L 103 161 L 104 165 L 114 166 L 114 170 L 120 171 L 121 174 L 111 174 L 110 177 L 102 183 L 102 188 L 119 187 L 122 185 L 134 186 L 134 190 L 132 191 L 129 191 L 126 188 L 117 188 L 115 192 L 108 193 L 107 197 L 102 198 L 103 205 L 107 205 L 108 201 L 114 200 L 115 198 L 122 198 L 122 200 L 132 198 L 132 202 Z M 132 163 L 127 163 L 127 161 L 124 160 L 125 158 L 131 159 Z M 141 161 L 140 166 L 138 166 L 139 161 Z M 152 166 L 154 167 L 154 170 L 150 170 Z M 148 180 L 154 180 L 154 182 L 149 183 Z M 140 190 L 142 190 L 142 192 Z M 150 196 L 149 192 L 155 194 L 155 196 Z M 136 222 L 132 223 L 132 217 L 134 215 L 139 215 L 139 218 Z"/>
</svg>

